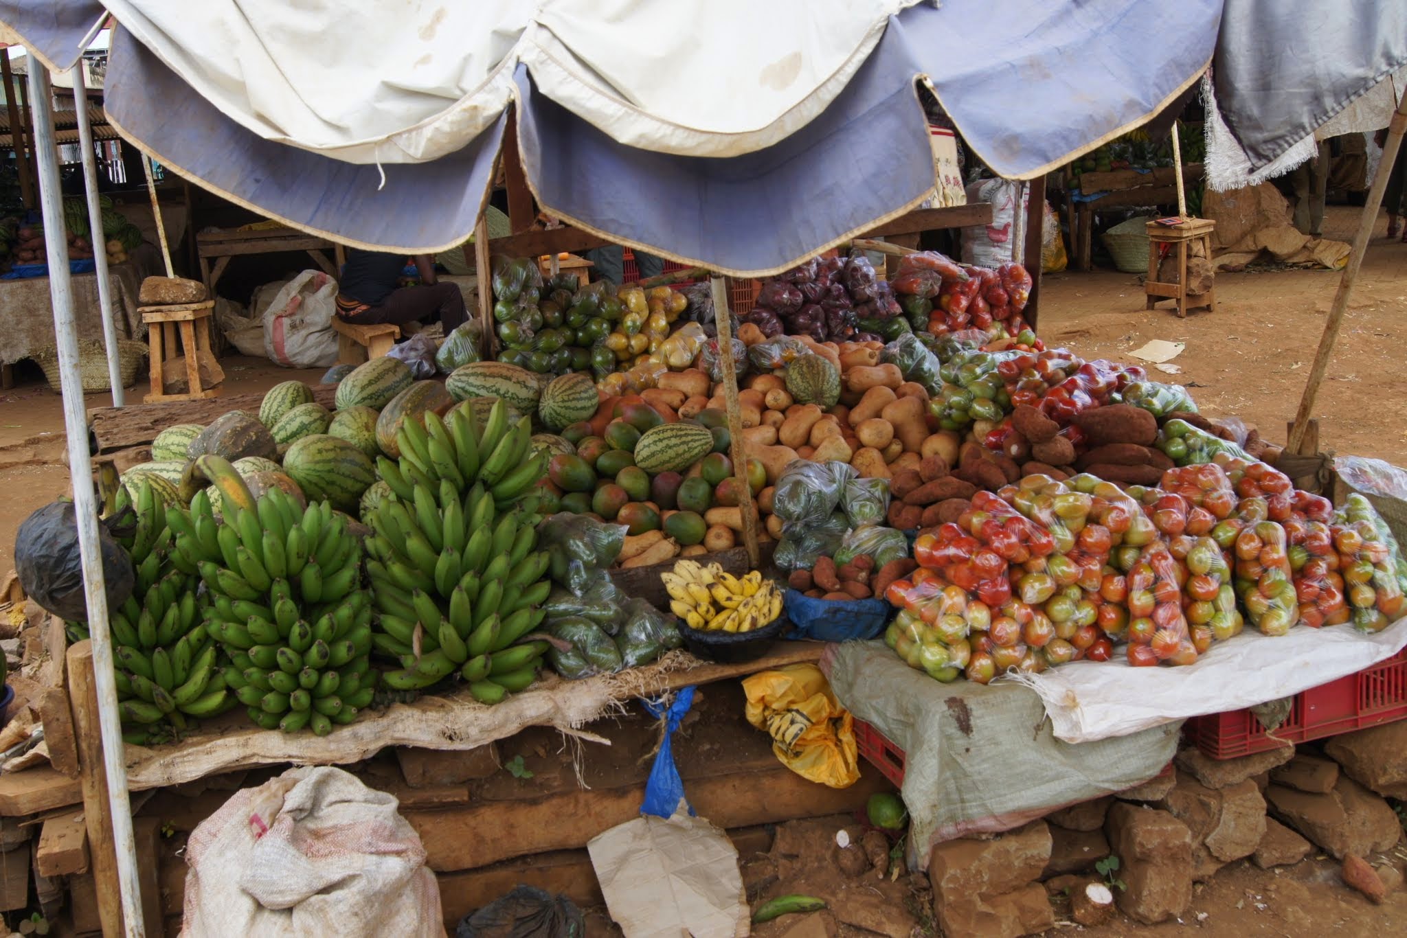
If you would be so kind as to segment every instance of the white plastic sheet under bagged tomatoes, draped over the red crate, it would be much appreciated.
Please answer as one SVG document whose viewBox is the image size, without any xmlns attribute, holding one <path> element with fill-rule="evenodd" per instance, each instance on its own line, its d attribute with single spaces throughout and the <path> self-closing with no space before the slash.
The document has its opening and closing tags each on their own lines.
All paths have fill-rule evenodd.
<svg viewBox="0 0 1407 938">
<path fill-rule="evenodd" d="M 1217 641 L 1185 668 L 1075 661 L 1006 681 L 1041 695 L 1057 738 L 1095 743 L 1293 696 L 1372 667 L 1404 645 L 1407 619 L 1375 634 L 1344 626 L 1290 629 L 1285 636 L 1247 630 Z"/>
</svg>

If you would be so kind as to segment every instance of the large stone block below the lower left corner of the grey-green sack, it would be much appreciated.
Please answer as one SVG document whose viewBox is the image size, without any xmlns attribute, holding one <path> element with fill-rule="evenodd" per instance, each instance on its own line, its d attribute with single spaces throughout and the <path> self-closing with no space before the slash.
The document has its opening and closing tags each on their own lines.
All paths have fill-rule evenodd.
<svg viewBox="0 0 1407 938">
<path fill-rule="evenodd" d="M 1016 938 L 1055 923 L 1045 890 L 1034 883 L 1051 856 L 1045 821 L 995 840 L 938 844 L 929 859 L 933 911 L 950 935 Z"/>
</svg>

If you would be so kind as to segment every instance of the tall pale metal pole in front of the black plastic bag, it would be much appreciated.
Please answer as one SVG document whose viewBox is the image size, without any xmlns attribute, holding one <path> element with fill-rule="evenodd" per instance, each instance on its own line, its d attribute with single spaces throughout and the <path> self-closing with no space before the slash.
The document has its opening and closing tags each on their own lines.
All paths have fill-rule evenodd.
<svg viewBox="0 0 1407 938">
<path fill-rule="evenodd" d="M 97 499 L 89 464 L 87 415 L 83 411 L 83 383 L 79 378 L 77 328 L 73 322 L 73 284 L 69 280 L 69 246 L 63 238 L 63 197 L 59 188 L 59 160 L 53 142 L 53 114 L 49 73 L 31 56 L 28 75 L 34 103 L 34 156 L 39 172 L 39 203 L 44 205 L 45 249 L 49 262 L 49 297 L 53 301 L 53 336 L 59 349 L 59 384 L 63 390 L 63 426 L 68 433 L 69 477 L 73 510 L 77 516 L 79 548 L 83 557 L 83 591 L 87 598 L 89 636 L 93 638 L 98 727 L 103 764 L 107 768 L 107 797 L 113 807 L 113 842 L 117 847 L 117 883 L 122 893 L 122 920 L 129 938 L 144 938 L 141 887 L 136 882 L 136 844 L 132 811 L 127 800 L 127 764 L 122 758 L 122 728 L 117 714 L 117 685 L 113 679 L 113 638 L 107 624 L 107 592 L 103 582 L 103 553 L 97 539 Z M 111 889 L 98 883 L 98 889 Z"/>
</svg>

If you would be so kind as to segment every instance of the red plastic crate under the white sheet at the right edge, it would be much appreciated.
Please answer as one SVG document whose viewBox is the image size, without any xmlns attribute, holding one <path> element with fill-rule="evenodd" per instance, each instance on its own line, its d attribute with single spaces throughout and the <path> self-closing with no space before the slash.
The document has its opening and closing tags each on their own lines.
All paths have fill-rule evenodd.
<svg viewBox="0 0 1407 938">
<path fill-rule="evenodd" d="M 1273 731 L 1266 731 L 1249 710 L 1233 710 L 1192 717 L 1182 733 L 1203 755 L 1234 759 L 1403 717 L 1407 717 L 1407 650 L 1297 695 L 1290 714 Z"/>
</svg>

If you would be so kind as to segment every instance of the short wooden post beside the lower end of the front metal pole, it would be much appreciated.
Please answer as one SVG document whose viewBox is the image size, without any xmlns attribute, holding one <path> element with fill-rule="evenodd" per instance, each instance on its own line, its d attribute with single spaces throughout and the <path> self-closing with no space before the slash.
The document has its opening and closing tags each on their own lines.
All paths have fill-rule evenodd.
<svg viewBox="0 0 1407 938">
<path fill-rule="evenodd" d="M 79 744 L 83 783 L 83 823 L 87 827 L 89 858 L 98 883 L 97 910 L 104 935 L 121 935 L 122 899 L 117 890 L 117 847 L 113 840 L 113 811 L 107 797 L 107 769 L 103 737 L 97 726 L 97 676 L 93 674 L 93 643 L 80 641 L 68 651 L 69 706 Z"/>
</svg>

